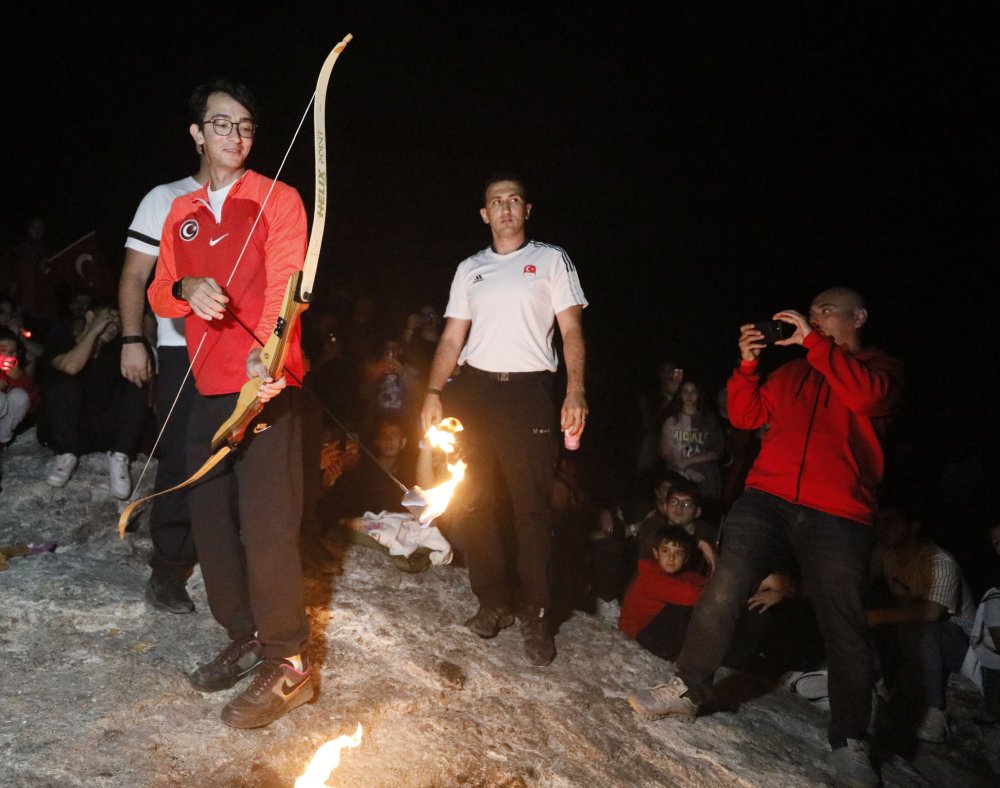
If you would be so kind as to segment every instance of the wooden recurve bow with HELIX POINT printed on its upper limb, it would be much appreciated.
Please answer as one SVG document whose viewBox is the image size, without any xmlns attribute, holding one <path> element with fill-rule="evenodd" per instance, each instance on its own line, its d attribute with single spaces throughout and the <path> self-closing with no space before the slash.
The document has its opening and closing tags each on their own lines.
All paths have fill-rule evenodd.
<svg viewBox="0 0 1000 788">
<path fill-rule="evenodd" d="M 323 246 L 323 231 L 326 227 L 326 92 L 337 58 L 340 57 L 340 53 L 344 51 L 352 38 L 353 36 L 348 33 L 333 48 L 323 62 L 319 77 L 316 80 L 316 92 L 312 97 L 316 161 L 316 195 L 313 209 L 313 226 L 309 235 L 309 244 L 306 249 L 302 270 L 296 271 L 289 277 L 288 285 L 285 288 L 285 297 L 275 323 L 274 331 L 272 331 L 268 341 L 264 343 L 264 349 L 261 351 L 261 361 L 267 367 L 268 374 L 272 378 L 280 376 L 288 353 L 289 342 L 294 334 L 295 324 L 301 314 L 309 308 L 309 302 L 312 300 L 313 283 L 319 263 L 320 250 Z M 294 143 L 294 139 L 292 142 Z M 264 202 L 267 202 L 267 197 L 265 197 Z M 261 205 L 258 220 L 263 211 L 264 205 Z M 256 222 L 254 222 L 254 226 L 256 226 Z M 250 234 L 253 234 L 253 228 L 251 228 Z M 240 257 L 242 257 L 242 252 L 240 253 Z M 236 261 L 236 265 L 239 265 L 239 259 Z M 235 273 L 235 268 L 233 272 Z M 145 498 L 139 498 L 130 503 L 122 511 L 118 518 L 118 533 L 121 538 L 125 538 L 125 529 L 128 526 L 128 520 L 139 504 L 193 484 L 236 448 L 239 442 L 243 440 L 243 435 L 247 427 L 264 407 L 257 397 L 257 391 L 260 389 L 262 383 L 261 378 L 252 378 L 243 384 L 237 398 L 236 408 L 232 415 L 216 431 L 212 438 L 210 456 L 197 471 L 181 484 L 171 487 L 168 490 L 161 490 Z"/>
</svg>

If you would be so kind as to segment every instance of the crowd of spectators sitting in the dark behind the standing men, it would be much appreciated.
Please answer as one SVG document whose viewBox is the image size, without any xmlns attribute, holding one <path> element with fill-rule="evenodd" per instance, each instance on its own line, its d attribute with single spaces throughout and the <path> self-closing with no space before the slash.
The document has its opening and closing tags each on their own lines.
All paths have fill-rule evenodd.
<svg viewBox="0 0 1000 788">
<path fill-rule="evenodd" d="M 34 246 L 26 249 L 22 257 Z M 116 303 L 83 290 L 64 293 L 61 309 L 37 322 L 39 334 L 13 274 L 4 276 L 0 451 L 37 426 L 38 440 L 53 452 L 48 484 L 67 484 L 81 455 L 102 452 L 110 494 L 127 499 L 130 462 L 151 447 L 155 377 L 136 386 L 122 376 Z M 441 330 L 433 305 L 388 313 L 372 293 L 338 288 L 305 314 L 304 533 L 314 543 L 364 511 L 403 511 L 404 489 L 437 478 L 419 407 Z M 557 570 L 556 591 L 567 615 L 596 612 L 642 648 L 673 660 L 726 549 L 726 516 L 767 426 L 734 428 L 725 389 L 713 395 L 678 360 L 660 364 L 657 382 L 639 400 L 640 429 L 624 456 L 609 459 L 600 447 L 560 455 L 555 537 L 575 560 Z M 888 456 L 891 462 L 891 446 Z M 898 483 L 883 491 L 867 606 L 879 676 L 873 726 L 891 720 L 931 742 L 948 736 L 953 673 L 980 687 L 984 713 L 1000 718 L 1000 519 L 981 487 L 962 483 L 968 473 L 956 481 L 960 470 L 943 465 L 936 496 Z M 951 530 L 950 542 L 941 532 L 946 544 L 934 533 L 954 529 L 954 519 L 926 505 L 929 498 L 950 501 L 952 514 L 972 513 Z M 460 531 L 449 539 L 460 562 Z M 723 664 L 793 688 L 807 676 L 808 694 L 823 701 L 825 658 L 798 567 L 773 567 L 746 600 Z"/>
</svg>

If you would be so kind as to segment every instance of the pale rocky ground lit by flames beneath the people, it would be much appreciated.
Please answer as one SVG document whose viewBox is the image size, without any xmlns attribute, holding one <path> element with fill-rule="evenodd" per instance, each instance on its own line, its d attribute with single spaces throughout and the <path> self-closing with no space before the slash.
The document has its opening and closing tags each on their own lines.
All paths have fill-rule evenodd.
<svg viewBox="0 0 1000 788">
<path fill-rule="evenodd" d="M 737 713 L 644 722 L 626 697 L 669 665 L 613 622 L 574 613 L 556 661 L 532 667 L 516 628 L 482 641 L 462 626 L 475 607 L 463 568 L 407 574 L 359 546 L 307 556 L 317 700 L 263 730 L 227 728 L 218 713 L 239 690 L 203 695 L 185 679 L 224 641 L 200 576 L 193 615 L 151 609 L 147 527 L 140 519 L 119 540 L 103 456 L 83 458 L 61 490 L 42 481 L 48 459 L 31 432 L 0 456 L 0 544 L 58 544 L 0 572 L 0 784 L 291 786 L 323 742 L 359 722 L 362 744 L 330 785 L 831 781 L 826 712 L 782 688 L 737 676 Z M 950 695 L 946 744 L 906 757 L 879 748 L 886 786 L 1000 781 L 1000 730 L 977 721 L 976 697 L 957 678 Z"/>
</svg>

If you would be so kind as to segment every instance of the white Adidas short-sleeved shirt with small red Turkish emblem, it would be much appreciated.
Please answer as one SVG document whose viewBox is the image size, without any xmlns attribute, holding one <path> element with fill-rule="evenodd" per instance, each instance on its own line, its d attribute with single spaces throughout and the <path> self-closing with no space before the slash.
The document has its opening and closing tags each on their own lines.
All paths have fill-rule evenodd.
<svg viewBox="0 0 1000 788">
<path fill-rule="evenodd" d="M 459 364 L 489 372 L 555 372 L 555 316 L 587 306 L 569 255 L 528 241 L 497 254 L 483 249 L 459 263 L 445 317 L 471 320 Z"/>
</svg>

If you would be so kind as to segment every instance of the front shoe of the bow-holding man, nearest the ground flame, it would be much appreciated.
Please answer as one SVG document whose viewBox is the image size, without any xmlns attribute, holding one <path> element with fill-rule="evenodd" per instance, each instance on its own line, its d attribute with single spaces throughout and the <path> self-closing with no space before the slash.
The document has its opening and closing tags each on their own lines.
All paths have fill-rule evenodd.
<svg viewBox="0 0 1000 788">
<path fill-rule="evenodd" d="M 222 721 L 232 728 L 261 728 L 312 700 L 314 689 L 309 661 L 302 670 L 287 659 L 265 659 L 250 686 L 222 710 Z"/>
</svg>

